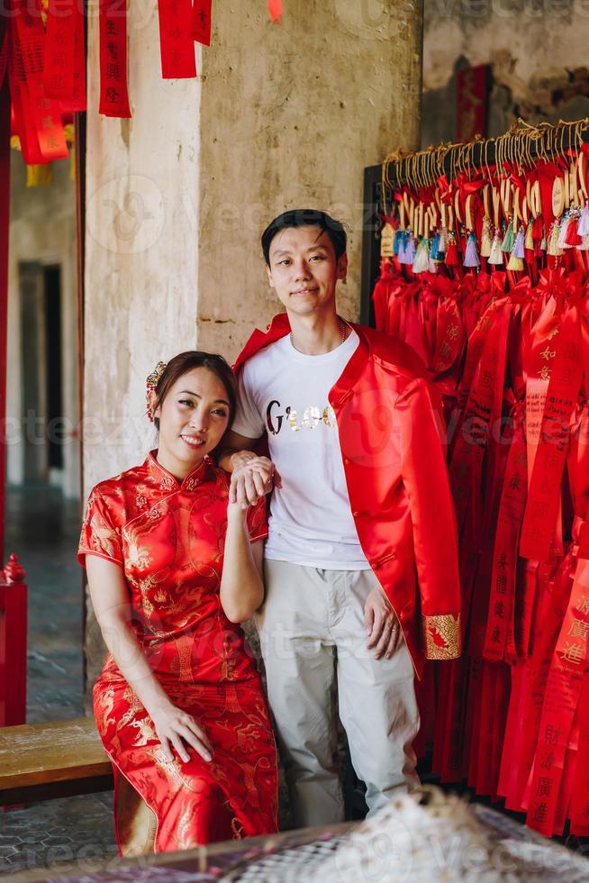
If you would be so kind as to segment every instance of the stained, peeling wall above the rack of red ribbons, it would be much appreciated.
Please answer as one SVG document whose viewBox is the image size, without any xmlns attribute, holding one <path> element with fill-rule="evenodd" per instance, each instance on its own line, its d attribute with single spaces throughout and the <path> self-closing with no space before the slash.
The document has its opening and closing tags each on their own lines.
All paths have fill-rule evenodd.
<svg viewBox="0 0 589 883">
<path fill-rule="evenodd" d="M 454 140 L 455 73 L 490 64 L 488 134 L 589 115 L 587 0 L 425 0 L 421 145 Z"/>
</svg>

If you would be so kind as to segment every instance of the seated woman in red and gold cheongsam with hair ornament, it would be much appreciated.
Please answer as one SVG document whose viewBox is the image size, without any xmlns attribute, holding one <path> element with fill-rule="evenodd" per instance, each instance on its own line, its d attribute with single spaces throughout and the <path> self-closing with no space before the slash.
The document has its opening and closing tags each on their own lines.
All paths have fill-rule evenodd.
<svg viewBox="0 0 589 883">
<path fill-rule="evenodd" d="M 94 711 L 123 855 L 276 831 L 276 746 L 240 622 L 263 600 L 263 505 L 228 505 L 209 454 L 231 426 L 221 356 L 148 378 L 159 447 L 96 485 L 78 558 L 109 650 Z"/>
</svg>

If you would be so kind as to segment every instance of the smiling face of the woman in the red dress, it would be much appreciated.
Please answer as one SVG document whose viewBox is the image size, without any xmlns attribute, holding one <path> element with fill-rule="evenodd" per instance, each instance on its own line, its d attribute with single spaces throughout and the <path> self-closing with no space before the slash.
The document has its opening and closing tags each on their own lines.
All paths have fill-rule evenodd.
<svg viewBox="0 0 589 883">
<path fill-rule="evenodd" d="M 186 371 L 156 409 L 158 460 L 177 478 L 185 478 L 221 442 L 229 425 L 229 396 L 207 368 Z"/>
</svg>

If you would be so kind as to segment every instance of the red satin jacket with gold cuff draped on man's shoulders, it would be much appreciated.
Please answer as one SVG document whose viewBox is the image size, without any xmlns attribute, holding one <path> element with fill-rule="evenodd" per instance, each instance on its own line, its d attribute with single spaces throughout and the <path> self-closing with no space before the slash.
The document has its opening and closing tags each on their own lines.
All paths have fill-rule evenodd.
<svg viewBox="0 0 589 883">
<path fill-rule="evenodd" d="M 329 396 L 349 503 L 364 554 L 420 674 L 423 653 L 451 660 L 460 652 L 458 540 L 441 408 L 410 347 L 353 327 L 358 349 Z M 235 370 L 289 332 L 286 314 L 275 316 L 266 333 L 256 329 Z"/>
</svg>

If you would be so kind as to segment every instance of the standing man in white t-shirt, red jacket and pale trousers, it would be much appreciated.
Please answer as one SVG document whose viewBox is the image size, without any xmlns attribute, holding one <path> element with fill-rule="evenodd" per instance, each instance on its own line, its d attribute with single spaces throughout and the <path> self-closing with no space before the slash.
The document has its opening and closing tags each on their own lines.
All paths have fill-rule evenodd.
<svg viewBox="0 0 589 883">
<path fill-rule="evenodd" d="M 336 681 L 369 814 L 417 784 L 421 646 L 432 659 L 459 653 L 455 519 L 421 360 L 336 312 L 341 224 L 286 212 L 262 248 L 286 312 L 240 355 L 221 462 L 243 505 L 266 492 L 276 465 L 258 631 L 294 822 L 328 824 L 343 818 Z M 252 451 L 264 436 L 272 463 Z"/>
</svg>

